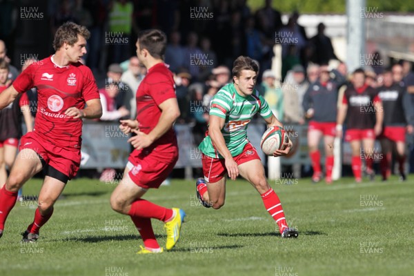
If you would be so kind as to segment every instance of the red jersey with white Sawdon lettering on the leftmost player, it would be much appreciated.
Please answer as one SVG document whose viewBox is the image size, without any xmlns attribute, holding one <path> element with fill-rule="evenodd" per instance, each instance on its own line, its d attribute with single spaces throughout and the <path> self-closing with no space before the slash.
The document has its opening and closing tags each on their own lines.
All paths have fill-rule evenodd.
<svg viewBox="0 0 414 276">
<path fill-rule="evenodd" d="M 20 92 L 37 88 L 37 115 L 34 132 L 62 148 L 81 148 L 82 119 L 66 116 L 74 106 L 85 107 L 90 99 L 99 99 L 95 78 L 82 63 L 57 66 L 52 57 L 32 63 L 13 82 Z"/>
</svg>

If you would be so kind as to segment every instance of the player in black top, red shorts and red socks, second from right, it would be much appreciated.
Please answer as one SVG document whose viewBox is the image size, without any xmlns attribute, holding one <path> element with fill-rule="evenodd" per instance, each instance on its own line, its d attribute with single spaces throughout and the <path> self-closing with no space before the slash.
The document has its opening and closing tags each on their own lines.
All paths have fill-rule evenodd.
<svg viewBox="0 0 414 276">
<path fill-rule="evenodd" d="M 384 112 L 377 90 L 365 84 L 365 72 L 362 69 L 353 72 L 352 86 L 346 88 L 344 92 L 337 115 L 338 137 L 342 137 L 342 124 L 345 118 L 347 119 L 345 140 L 351 143 L 355 181 L 358 183 L 362 181 L 361 157 L 366 160 L 366 172 L 373 180 L 374 142 L 375 136 L 380 135 L 382 131 Z"/>
</svg>

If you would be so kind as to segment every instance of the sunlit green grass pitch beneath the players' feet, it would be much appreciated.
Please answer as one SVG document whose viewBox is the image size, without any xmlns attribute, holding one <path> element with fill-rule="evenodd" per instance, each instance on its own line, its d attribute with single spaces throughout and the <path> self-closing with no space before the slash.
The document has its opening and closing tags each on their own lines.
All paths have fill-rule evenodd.
<svg viewBox="0 0 414 276">
<path fill-rule="evenodd" d="M 172 180 L 145 197 L 187 213 L 177 246 L 158 255 L 135 254 L 142 244 L 137 230 L 109 206 L 115 184 L 77 179 L 35 244 L 21 244 L 19 233 L 36 205 L 17 202 L 0 239 L 0 275 L 413 275 L 414 175 L 408 179 L 271 184 L 298 239 L 275 232 L 246 181 L 228 181 L 226 205 L 212 210 L 199 206 L 194 181 Z M 30 180 L 23 194 L 36 195 L 40 184 Z M 152 225 L 164 245 L 163 224 Z"/>
</svg>

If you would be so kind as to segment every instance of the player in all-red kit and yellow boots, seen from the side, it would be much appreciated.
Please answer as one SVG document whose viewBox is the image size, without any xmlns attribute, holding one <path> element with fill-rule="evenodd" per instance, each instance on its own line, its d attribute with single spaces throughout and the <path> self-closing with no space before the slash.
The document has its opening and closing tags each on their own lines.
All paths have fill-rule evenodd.
<svg viewBox="0 0 414 276">
<path fill-rule="evenodd" d="M 139 33 L 137 57 L 148 73 L 137 90 L 137 119 L 121 120 L 121 130 L 137 135 L 128 141 L 135 150 L 128 159 L 124 177 L 110 197 L 112 209 L 129 215 L 144 241 L 138 254 L 164 251 L 155 238 L 151 219 L 163 221 L 167 232 L 166 249 L 179 239 L 186 213 L 179 208 L 164 208 L 143 195 L 150 188 L 159 188 L 178 159 L 177 137 L 172 125 L 180 112 L 175 97 L 172 73 L 163 61 L 166 35 L 160 30 Z"/>
</svg>

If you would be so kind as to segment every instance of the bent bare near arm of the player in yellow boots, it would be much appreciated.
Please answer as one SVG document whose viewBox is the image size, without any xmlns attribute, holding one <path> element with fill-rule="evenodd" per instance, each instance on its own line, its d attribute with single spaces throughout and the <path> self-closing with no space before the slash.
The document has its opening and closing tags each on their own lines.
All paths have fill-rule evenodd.
<svg viewBox="0 0 414 276">
<path fill-rule="evenodd" d="M 157 126 L 150 133 L 146 134 L 139 130 L 132 130 L 137 135 L 128 139 L 128 142 L 137 150 L 150 146 L 155 140 L 164 135 L 172 128 L 172 124 L 174 124 L 180 115 L 176 98 L 166 99 L 159 104 L 159 108 L 161 109 L 161 116 L 159 117 Z"/>
</svg>

